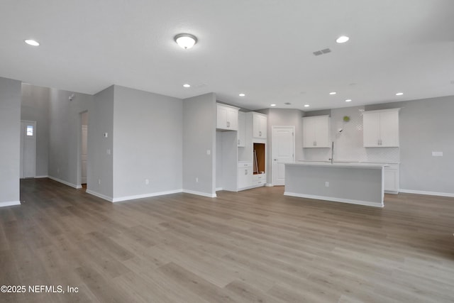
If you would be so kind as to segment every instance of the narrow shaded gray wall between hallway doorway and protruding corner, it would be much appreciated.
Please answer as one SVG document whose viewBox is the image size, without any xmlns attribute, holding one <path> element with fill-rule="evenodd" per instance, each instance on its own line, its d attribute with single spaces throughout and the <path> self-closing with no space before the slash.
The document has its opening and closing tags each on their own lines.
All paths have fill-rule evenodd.
<svg viewBox="0 0 454 303">
<path fill-rule="evenodd" d="M 79 128 L 80 129 L 80 128 Z M 104 138 L 107 133 L 107 138 Z M 94 95 L 88 112 L 87 192 L 114 197 L 114 86 Z M 109 155 L 107 151 L 110 150 Z"/>
</svg>

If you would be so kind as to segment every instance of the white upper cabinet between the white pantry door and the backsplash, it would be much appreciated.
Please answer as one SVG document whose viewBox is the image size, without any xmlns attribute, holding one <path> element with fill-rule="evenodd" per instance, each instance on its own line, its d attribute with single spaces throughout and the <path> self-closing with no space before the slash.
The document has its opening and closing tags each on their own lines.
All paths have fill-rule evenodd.
<svg viewBox="0 0 454 303">
<path fill-rule="evenodd" d="M 303 118 L 303 147 L 331 148 L 329 116 Z"/>
</svg>

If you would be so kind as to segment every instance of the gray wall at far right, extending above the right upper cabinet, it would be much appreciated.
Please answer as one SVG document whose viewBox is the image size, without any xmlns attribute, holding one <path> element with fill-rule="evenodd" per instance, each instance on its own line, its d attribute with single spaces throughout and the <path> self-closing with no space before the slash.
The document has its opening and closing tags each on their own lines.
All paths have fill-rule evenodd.
<svg viewBox="0 0 454 303">
<path fill-rule="evenodd" d="M 400 107 L 400 188 L 454 195 L 454 96 L 366 106 Z M 443 152 L 433 157 L 432 152 Z"/>
</svg>

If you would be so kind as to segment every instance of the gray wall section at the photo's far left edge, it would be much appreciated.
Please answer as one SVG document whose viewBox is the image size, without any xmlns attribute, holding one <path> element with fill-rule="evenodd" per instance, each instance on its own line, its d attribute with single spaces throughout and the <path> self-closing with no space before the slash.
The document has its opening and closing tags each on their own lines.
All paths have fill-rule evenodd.
<svg viewBox="0 0 454 303">
<path fill-rule="evenodd" d="M 20 204 L 21 82 L 0 77 L 0 206 Z"/>
</svg>

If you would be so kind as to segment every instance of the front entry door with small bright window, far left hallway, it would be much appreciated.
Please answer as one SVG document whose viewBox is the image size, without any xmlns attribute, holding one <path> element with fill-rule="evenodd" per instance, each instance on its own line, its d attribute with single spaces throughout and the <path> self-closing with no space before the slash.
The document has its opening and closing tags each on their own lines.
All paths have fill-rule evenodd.
<svg viewBox="0 0 454 303">
<path fill-rule="evenodd" d="M 36 121 L 21 121 L 21 179 L 36 174 Z"/>
</svg>

